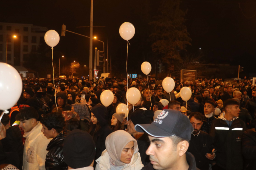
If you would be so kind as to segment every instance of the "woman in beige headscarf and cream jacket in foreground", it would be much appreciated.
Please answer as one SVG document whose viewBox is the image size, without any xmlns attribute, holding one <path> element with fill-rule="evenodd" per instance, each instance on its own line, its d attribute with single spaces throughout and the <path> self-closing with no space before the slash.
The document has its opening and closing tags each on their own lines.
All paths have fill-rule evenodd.
<svg viewBox="0 0 256 170">
<path fill-rule="evenodd" d="M 95 170 L 141 170 L 137 141 L 124 131 L 117 130 L 106 138 L 106 150 L 96 160 Z"/>
</svg>

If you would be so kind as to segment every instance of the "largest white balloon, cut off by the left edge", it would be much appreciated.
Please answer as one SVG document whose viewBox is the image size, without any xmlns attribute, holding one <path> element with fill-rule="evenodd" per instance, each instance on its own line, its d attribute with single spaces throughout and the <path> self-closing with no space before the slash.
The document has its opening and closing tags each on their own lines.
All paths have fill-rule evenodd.
<svg viewBox="0 0 256 170">
<path fill-rule="evenodd" d="M 0 63 L 0 110 L 13 107 L 20 99 L 22 80 L 14 67 Z"/>
</svg>

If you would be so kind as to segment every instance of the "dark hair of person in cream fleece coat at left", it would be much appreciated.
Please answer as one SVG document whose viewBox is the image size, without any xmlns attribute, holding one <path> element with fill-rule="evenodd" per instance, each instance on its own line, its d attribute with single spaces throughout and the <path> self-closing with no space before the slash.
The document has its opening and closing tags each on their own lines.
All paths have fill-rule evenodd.
<svg viewBox="0 0 256 170">
<path fill-rule="evenodd" d="M 16 121 L 24 121 L 28 119 L 36 119 L 38 120 L 38 113 L 34 107 L 25 107 L 20 110 L 20 113 L 16 115 Z"/>
</svg>

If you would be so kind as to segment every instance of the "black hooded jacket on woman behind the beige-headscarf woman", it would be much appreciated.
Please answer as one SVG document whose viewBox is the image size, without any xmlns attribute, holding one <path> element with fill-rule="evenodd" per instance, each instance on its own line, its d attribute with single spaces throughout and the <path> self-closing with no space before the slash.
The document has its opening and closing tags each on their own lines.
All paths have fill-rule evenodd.
<svg viewBox="0 0 256 170">
<path fill-rule="evenodd" d="M 98 159 L 101 153 L 106 149 L 105 141 L 106 137 L 112 132 L 111 128 L 108 126 L 107 108 L 103 105 L 95 105 L 91 109 L 91 113 L 95 115 L 100 124 L 100 130 L 94 134 L 95 128 L 91 130 L 90 135 L 93 136 L 96 145 L 96 155 L 95 160 Z M 94 135 L 93 135 L 94 134 Z M 95 163 L 96 164 L 96 163 Z"/>
</svg>

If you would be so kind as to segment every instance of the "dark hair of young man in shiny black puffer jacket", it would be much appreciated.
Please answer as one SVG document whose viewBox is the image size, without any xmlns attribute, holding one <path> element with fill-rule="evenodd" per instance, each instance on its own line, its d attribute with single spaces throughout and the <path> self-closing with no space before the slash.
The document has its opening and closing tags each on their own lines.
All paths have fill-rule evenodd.
<svg viewBox="0 0 256 170">
<path fill-rule="evenodd" d="M 60 133 L 65 126 L 65 119 L 63 115 L 60 115 L 58 112 L 44 115 L 40 122 L 46 126 L 48 130 L 54 128 L 58 133 Z"/>
</svg>

